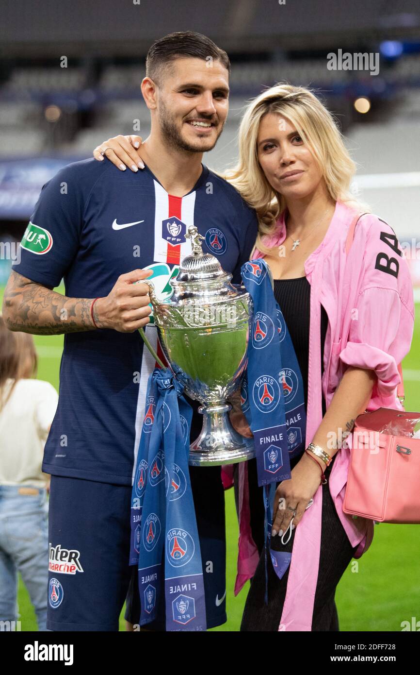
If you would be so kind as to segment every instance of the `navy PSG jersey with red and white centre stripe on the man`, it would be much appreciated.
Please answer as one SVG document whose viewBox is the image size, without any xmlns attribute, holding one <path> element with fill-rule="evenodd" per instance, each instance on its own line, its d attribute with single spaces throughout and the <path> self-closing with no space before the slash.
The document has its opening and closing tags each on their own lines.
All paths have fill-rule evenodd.
<svg viewBox="0 0 420 675">
<path fill-rule="evenodd" d="M 150 278 L 164 299 L 191 252 L 191 240 L 184 238 L 189 225 L 198 227 L 203 249 L 240 283 L 258 223 L 233 186 L 203 165 L 191 192 L 176 197 L 148 167 L 133 173 L 108 161 L 77 162 L 42 188 L 13 269 L 51 288 L 64 279 L 72 298 L 107 296 L 119 275 L 152 269 Z M 146 334 L 159 353 L 156 333 L 151 320 Z M 154 367 L 138 331 L 66 333 L 59 403 L 42 470 L 131 485 Z"/>
</svg>

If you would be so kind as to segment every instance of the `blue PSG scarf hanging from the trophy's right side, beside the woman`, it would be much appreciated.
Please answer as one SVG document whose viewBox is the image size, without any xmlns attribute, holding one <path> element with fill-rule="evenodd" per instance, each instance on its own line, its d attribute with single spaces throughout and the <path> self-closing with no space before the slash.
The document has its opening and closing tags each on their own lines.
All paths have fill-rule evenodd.
<svg viewBox="0 0 420 675">
<path fill-rule="evenodd" d="M 247 373 L 241 387 L 242 410 L 254 436 L 258 485 L 264 485 L 266 547 L 281 578 L 291 553 L 270 547 L 276 483 L 291 478 L 290 458 L 305 443 L 305 396 L 299 362 L 280 307 L 274 298 L 266 262 L 257 259 L 241 268 L 243 284 L 253 300 Z"/>
</svg>

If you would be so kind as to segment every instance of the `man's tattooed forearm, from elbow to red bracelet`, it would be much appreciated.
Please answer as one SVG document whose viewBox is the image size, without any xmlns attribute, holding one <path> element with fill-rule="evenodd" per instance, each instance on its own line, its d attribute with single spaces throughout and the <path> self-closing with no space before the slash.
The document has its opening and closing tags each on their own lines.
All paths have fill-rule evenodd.
<svg viewBox="0 0 420 675">
<path fill-rule="evenodd" d="M 67 298 L 12 271 L 3 307 L 7 327 L 35 335 L 59 335 L 95 329 L 90 315 L 92 298 Z"/>
</svg>

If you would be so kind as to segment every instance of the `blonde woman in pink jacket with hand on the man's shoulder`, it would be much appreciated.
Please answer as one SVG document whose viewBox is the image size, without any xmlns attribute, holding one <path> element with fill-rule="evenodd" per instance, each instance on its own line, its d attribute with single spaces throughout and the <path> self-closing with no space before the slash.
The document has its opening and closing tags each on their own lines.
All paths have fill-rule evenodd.
<svg viewBox="0 0 420 675">
<path fill-rule="evenodd" d="M 142 155 L 137 136 L 102 146 L 117 165 L 128 153 Z M 252 578 L 243 631 L 338 630 L 336 585 L 373 537 L 371 520 L 342 511 L 350 450 L 340 439 L 365 410 L 403 409 L 398 367 L 411 346 L 414 304 L 394 230 L 355 201 L 354 173 L 334 118 L 307 88 L 278 84 L 247 107 L 239 161 L 225 178 L 258 213 L 252 257 L 264 257 L 272 270 L 307 418 L 306 450 L 291 460 L 292 478 L 278 484 L 272 505 L 270 545 L 289 551 L 291 562 L 278 578 L 268 556 L 268 605 L 256 461 L 237 467 L 235 593 Z M 250 434 L 240 406 L 232 418 Z"/>
</svg>

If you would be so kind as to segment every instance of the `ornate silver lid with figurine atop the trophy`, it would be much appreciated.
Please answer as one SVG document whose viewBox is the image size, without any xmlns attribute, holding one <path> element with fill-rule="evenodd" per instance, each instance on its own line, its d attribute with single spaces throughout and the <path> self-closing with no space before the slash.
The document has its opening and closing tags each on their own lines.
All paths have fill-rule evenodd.
<svg viewBox="0 0 420 675">
<path fill-rule="evenodd" d="M 214 300 L 221 300 L 243 294 L 232 286 L 232 275 L 224 271 L 218 259 L 203 252 L 200 240 L 204 237 L 195 225 L 188 228 L 185 238 L 191 239 L 192 253 L 183 259 L 177 277 L 169 282 L 174 292 L 168 304 L 184 304 L 203 296 L 206 300 L 212 296 Z"/>
</svg>

